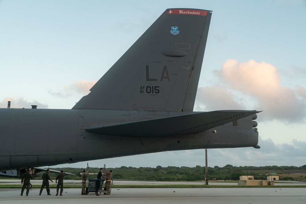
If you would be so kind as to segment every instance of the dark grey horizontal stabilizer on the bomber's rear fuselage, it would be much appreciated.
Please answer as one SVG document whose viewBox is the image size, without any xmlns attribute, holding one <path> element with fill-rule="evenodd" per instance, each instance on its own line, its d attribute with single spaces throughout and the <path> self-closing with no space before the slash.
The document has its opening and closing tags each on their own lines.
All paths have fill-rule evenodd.
<svg viewBox="0 0 306 204">
<path fill-rule="evenodd" d="M 199 133 L 260 111 L 225 110 L 88 127 L 91 133 L 121 137 L 162 137 Z"/>
</svg>

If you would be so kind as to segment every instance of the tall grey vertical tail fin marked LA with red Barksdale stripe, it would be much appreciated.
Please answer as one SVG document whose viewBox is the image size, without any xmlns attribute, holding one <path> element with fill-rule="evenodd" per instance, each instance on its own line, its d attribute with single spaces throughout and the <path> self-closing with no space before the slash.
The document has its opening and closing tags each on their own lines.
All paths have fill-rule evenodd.
<svg viewBox="0 0 306 204">
<path fill-rule="evenodd" d="M 73 109 L 193 111 L 210 20 L 167 9 Z"/>
</svg>

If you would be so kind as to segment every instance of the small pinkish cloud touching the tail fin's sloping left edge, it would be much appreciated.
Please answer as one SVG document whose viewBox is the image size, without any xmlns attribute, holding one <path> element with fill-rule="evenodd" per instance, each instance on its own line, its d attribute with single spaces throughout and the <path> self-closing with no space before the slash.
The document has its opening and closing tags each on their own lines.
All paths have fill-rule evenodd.
<svg viewBox="0 0 306 204">
<path fill-rule="evenodd" d="M 89 89 L 91 89 L 91 87 L 94 86 L 96 82 L 97 80 L 87 82 L 83 79 L 80 79 L 78 82 L 71 82 L 68 85 L 64 86 L 63 90 L 60 92 L 54 92 L 52 89 L 49 89 L 48 93 L 61 98 L 70 97 L 75 93 L 87 95 L 90 92 Z"/>
</svg>

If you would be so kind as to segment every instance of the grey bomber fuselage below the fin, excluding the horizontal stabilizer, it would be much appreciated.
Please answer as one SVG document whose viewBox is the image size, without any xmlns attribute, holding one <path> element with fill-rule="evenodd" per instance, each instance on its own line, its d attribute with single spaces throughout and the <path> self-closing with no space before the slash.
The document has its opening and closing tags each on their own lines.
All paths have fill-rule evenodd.
<svg viewBox="0 0 306 204">
<path fill-rule="evenodd" d="M 0 170 L 161 151 L 253 147 L 258 143 L 258 133 L 252 128 L 252 116 L 239 119 L 236 125 L 229 122 L 196 134 L 167 137 L 118 137 L 84 130 L 92 126 L 188 113 L 190 112 L 1 108 Z"/>
</svg>

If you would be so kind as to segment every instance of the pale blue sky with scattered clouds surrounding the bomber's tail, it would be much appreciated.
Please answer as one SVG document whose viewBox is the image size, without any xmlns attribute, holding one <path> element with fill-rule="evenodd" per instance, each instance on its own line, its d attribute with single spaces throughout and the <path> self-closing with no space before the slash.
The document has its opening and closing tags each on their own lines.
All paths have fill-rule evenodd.
<svg viewBox="0 0 306 204">
<path fill-rule="evenodd" d="M 208 149 L 208 166 L 305 165 L 305 0 L 0 0 L 0 107 L 71 109 L 168 8 L 212 10 L 194 111 L 263 111 L 261 148 Z M 205 150 L 88 163 L 205 166 Z"/>
</svg>

